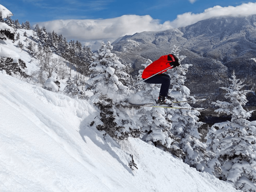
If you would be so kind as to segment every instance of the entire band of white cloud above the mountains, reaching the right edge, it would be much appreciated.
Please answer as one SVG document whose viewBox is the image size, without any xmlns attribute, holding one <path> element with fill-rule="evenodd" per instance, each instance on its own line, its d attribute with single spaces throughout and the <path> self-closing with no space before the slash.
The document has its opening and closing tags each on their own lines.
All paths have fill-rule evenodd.
<svg viewBox="0 0 256 192">
<path fill-rule="evenodd" d="M 190 0 L 193 3 L 195 0 Z M 256 14 L 256 3 L 241 4 L 239 6 L 214 6 L 204 10 L 202 13 L 194 14 L 187 12 L 178 15 L 173 21 L 153 19 L 149 15 L 123 15 L 113 19 L 102 20 L 53 20 L 40 23 L 48 31 L 55 31 L 67 37 L 68 40 L 79 40 L 92 49 L 97 49 L 99 42 L 109 40 L 113 42 L 120 36 L 132 35 L 142 31 L 161 31 L 170 28 L 178 28 L 191 25 L 197 21 L 208 19 L 214 16 L 248 16 Z"/>
</svg>

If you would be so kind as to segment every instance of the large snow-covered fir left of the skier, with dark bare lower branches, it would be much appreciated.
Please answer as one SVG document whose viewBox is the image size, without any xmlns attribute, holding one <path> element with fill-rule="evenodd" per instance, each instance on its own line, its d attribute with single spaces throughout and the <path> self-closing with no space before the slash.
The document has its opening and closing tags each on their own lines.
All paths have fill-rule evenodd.
<svg viewBox="0 0 256 192">
<path fill-rule="evenodd" d="M 128 74 L 122 72 L 125 66 L 116 54 L 111 53 L 112 49 L 109 41 L 107 45 L 102 42 L 98 52 L 94 53 L 95 61 L 90 66 L 92 74 L 87 81 L 87 88 L 94 92 L 91 100 L 100 109 L 91 126 L 104 130 L 117 139 L 138 137 L 140 130 L 125 108 L 124 100 L 129 90 L 119 81 L 120 76 Z"/>
</svg>

